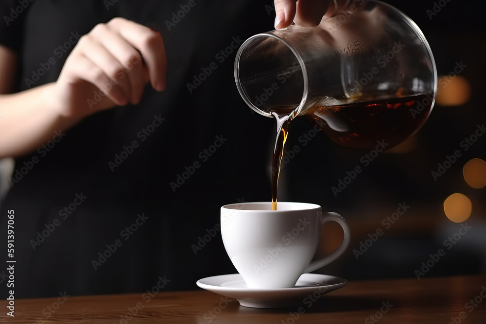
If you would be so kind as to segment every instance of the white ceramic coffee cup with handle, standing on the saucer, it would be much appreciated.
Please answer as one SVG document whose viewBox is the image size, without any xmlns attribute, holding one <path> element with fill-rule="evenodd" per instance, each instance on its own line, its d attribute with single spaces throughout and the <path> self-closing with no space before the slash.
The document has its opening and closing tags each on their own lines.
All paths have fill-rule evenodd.
<svg viewBox="0 0 486 324">
<path fill-rule="evenodd" d="M 338 222 L 344 230 L 341 245 L 311 262 L 320 243 L 321 226 Z M 221 207 L 221 234 L 226 252 L 248 288 L 292 288 L 303 273 L 324 267 L 349 245 L 349 227 L 339 214 L 322 213 L 315 204 L 241 203 Z"/>
</svg>

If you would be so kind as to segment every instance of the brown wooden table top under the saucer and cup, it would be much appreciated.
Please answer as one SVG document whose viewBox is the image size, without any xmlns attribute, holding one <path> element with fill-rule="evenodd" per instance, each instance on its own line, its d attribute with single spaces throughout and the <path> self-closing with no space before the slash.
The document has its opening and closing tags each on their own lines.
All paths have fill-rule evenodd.
<svg viewBox="0 0 486 324">
<path fill-rule="evenodd" d="M 486 276 L 349 282 L 303 314 L 224 300 L 206 290 L 159 292 L 148 303 L 141 293 L 23 299 L 16 300 L 15 318 L 7 316 L 2 301 L 0 323 L 485 324 Z"/>
</svg>

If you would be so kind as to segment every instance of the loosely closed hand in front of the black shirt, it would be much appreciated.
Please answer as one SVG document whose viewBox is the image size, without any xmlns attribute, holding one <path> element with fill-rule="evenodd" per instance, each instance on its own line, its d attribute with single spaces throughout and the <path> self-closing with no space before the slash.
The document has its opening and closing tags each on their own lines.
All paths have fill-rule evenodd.
<svg viewBox="0 0 486 324">
<path fill-rule="evenodd" d="M 82 36 L 53 91 L 54 107 L 66 117 L 139 103 L 145 85 L 163 91 L 167 59 L 159 33 L 124 18 L 96 25 Z"/>
</svg>

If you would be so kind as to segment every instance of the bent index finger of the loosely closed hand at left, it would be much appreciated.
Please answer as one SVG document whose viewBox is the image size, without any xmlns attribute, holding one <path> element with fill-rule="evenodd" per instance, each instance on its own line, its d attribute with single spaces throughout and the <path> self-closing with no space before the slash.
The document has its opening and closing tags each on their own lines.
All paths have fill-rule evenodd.
<svg viewBox="0 0 486 324">
<path fill-rule="evenodd" d="M 114 18 L 108 22 L 108 26 L 140 51 L 147 65 L 152 86 L 158 91 L 164 90 L 167 84 L 167 58 L 162 36 L 148 27 L 124 18 Z"/>
</svg>

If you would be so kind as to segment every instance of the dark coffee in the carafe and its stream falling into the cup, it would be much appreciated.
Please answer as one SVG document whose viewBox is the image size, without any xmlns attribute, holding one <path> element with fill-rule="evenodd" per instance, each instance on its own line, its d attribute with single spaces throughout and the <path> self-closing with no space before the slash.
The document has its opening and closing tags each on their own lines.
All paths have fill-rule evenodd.
<svg viewBox="0 0 486 324">
<path fill-rule="evenodd" d="M 326 106 L 326 100 L 314 103 L 303 116 L 319 121 L 321 131 L 333 142 L 355 149 L 373 149 L 377 144 L 385 150 L 395 147 L 415 133 L 426 121 L 427 114 L 412 116 L 410 110 L 431 109 L 433 94 L 395 96 L 362 102 Z M 329 102 L 329 100 L 327 100 Z M 428 102 L 427 104 L 424 104 Z M 281 109 L 280 109 L 281 110 Z M 272 209 L 277 210 L 277 187 L 280 163 L 288 136 L 290 115 L 272 112 L 277 122 L 272 160 Z"/>
</svg>

